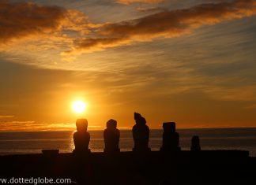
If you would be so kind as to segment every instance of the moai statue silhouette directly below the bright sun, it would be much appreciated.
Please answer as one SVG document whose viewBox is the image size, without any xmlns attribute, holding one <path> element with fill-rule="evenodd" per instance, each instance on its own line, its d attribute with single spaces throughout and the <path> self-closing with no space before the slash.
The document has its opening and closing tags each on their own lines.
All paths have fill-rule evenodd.
<svg viewBox="0 0 256 185">
<path fill-rule="evenodd" d="M 73 143 L 75 146 L 74 153 L 88 153 L 88 143 L 90 142 L 90 134 L 87 131 L 88 121 L 86 119 L 78 119 L 76 122 L 77 131 L 73 133 Z"/>
</svg>

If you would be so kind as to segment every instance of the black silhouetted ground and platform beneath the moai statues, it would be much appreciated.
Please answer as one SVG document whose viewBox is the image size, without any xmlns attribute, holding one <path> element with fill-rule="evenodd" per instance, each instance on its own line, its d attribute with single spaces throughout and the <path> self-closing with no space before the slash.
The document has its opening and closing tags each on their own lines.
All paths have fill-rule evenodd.
<svg viewBox="0 0 256 185">
<path fill-rule="evenodd" d="M 0 157 L 0 178 L 70 178 L 73 184 L 256 184 L 247 151 L 24 154 Z"/>
</svg>

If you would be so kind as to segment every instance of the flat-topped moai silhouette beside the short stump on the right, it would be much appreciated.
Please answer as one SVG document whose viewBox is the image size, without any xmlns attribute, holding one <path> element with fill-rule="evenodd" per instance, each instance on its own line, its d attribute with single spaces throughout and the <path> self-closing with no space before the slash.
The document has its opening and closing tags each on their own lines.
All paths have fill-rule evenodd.
<svg viewBox="0 0 256 185">
<path fill-rule="evenodd" d="M 163 124 L 163 151 L 179 151 L 179 134 L 175 131 L 175 122 Z"/>
</svg>

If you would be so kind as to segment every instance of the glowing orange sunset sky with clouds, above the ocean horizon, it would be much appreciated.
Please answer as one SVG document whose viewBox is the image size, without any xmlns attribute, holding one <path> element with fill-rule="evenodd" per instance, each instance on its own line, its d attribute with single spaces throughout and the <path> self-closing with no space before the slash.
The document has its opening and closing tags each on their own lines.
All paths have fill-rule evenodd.
<svg viewBox="0 0 256 185">
<path fill-rule="evenodd" d="M 1 0 L 0 84 L 0 131 L 256 127 L 256 0 Z"/>
</svg>

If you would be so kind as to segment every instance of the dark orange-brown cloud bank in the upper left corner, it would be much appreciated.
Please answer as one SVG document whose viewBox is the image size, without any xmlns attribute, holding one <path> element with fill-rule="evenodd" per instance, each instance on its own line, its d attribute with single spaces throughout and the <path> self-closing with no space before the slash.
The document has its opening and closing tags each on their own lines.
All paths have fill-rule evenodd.
<svg viewBox="0 0 256 185">
<path fill-rule="evenodd" d="M 29 38 L 51 38 L 62 31 L 88 32 L 93 25 L 84 13 L 58 6 L 39 6 L 32 2 L 0 2 L 0 43 Z"/>
</svg>

